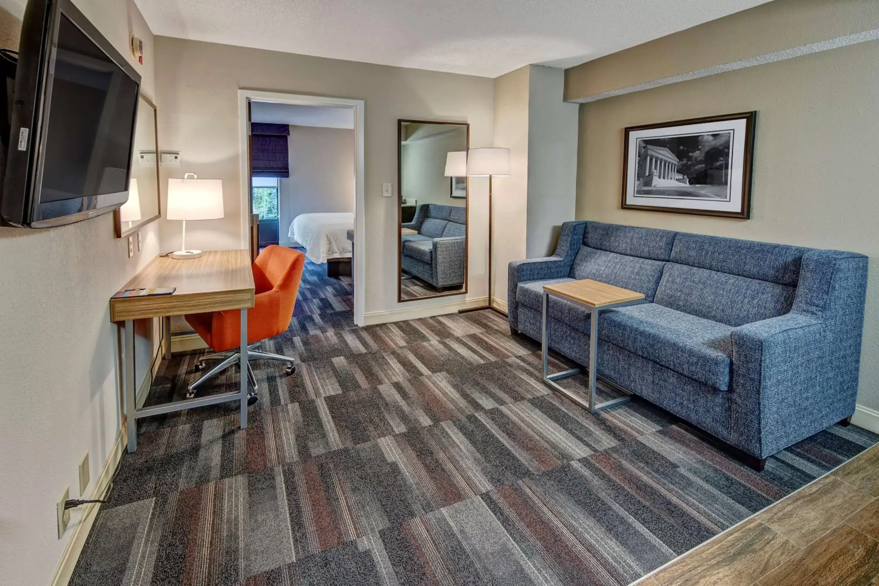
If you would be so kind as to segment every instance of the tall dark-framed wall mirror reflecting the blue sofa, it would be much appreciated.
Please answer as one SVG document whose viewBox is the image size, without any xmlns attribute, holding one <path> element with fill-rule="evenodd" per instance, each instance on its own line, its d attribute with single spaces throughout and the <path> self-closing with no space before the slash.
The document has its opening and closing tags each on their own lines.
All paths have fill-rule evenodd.
<svg viewBox="0 0 879 586">
<path fill-rule="evenodd" d="M 467 293 L 469 124 L 398 120 L 399 300 Z M 459 164 L 455 164 L 459 163 Z M 465 163 L 466 164 L 466 163 Z M 451 174 L 457 174 L 451 177 Z"/>
</svg>

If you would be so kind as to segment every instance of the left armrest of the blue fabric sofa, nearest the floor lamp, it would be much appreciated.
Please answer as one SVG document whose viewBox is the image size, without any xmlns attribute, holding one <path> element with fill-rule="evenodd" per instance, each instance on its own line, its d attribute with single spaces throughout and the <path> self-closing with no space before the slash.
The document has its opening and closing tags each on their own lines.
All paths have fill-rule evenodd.
<svg viewBox="0 0 879 586">
<path fill-rule="evenodd" d="M 519 283 L 567 277 L 574 257 L 583 246 L 585 228 L 585 221 L 566 221 L 562 224 L 556 253 L 552 257 L 527 258 L 510 263 L 506 280 L 506 314 L 511 328 L 519 329 L 519 305 L 516 302 Z"/>
</svg>

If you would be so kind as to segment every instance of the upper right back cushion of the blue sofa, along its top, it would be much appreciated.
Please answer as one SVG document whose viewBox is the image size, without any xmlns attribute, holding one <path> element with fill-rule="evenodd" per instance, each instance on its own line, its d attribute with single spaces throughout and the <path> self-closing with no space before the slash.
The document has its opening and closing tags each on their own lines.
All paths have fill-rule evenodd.
<svg viewBox="0 0 879 586">
<path fill-rule="evenodd" d="M 739 277 L 796 286 L 800 279 L 800 263 L 809 250 L 800 246 L 679 232 L 674 239 L 670 260 Z"/>
</svg>

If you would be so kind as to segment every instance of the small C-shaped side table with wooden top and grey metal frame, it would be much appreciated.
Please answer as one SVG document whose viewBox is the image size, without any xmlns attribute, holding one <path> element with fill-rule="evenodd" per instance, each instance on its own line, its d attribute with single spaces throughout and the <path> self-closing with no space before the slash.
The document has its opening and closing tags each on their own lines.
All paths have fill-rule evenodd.
<svg viewBox="0 0 879 586">
<path fill-rule="evenodd" d="M 570 376 L 579 374 L 581 372 L 579 368 L 571 368 L 562 373 L 549 374 L 548 306 L 550 297 L 558 297 L 573 301 L 578 305 L 588 308 L 591 313 L 589 324 L 589 402 L 585 402 L 577 394 L 571 393 L 568 389 L 563 388 L 556 383 L 556 380 L 567 379 Z M 582 279 L 578 281 L 569 281 L 568 283 L 558 283 L 557 285 L 543 286 L 543 328 L 541 335 L 541 350 L 543 351 L 543 382 L 547 383 L 550 387 L 553 387 L 553 389 L 565 395 L 581 407 L 589 409 L 590 413 L 595 413 L 599 409 L 607 409 L 608 407 L 614 407 L 614 405 L 628 402 L 628 396 L 618 397 L 602 403 L 596 401 L 595 392 L 597 389 L 596 381 L 598 377 L 599 311 L 602 309 L 613 309 L 614 307 L 634 305 L 641 302 L 643 299 L 643 293 L 637 293 L 621 287 L 607 285 L 607 283 L 602 283 L 592 279 Z"/>
</svg>

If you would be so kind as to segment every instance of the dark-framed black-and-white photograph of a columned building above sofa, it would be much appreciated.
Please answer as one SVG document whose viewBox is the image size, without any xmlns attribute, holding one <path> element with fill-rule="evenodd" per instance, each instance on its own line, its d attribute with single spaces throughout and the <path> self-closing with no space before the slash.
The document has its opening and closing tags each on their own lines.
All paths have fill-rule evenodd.
<svg viewBox="0 0 879 586">
<path fill-rule="evenodd" d="M 626 128 L 622 208 L 750 217 L 754 114 Z"/>
</svg>

